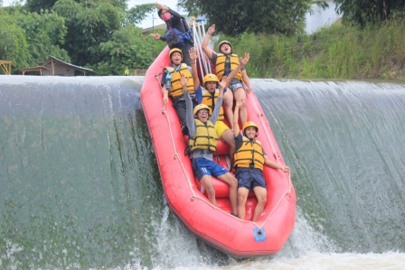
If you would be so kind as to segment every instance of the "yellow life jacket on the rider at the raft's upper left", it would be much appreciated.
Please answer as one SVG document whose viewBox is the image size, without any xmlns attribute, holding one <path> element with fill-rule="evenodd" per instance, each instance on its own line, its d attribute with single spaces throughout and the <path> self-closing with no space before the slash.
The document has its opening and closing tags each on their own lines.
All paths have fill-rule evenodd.
<svg viewBox="0 0 405 270">
<path fill-rule="evenodd" d="M 183 87 L 182 87 L 182 82 L 180 79 L 182 78 L 182 73 L 184 73 L 185 78 L 188 78 L 188 83 L 187 83 L 187 90 L 190 93 L 190 95 L 194 94 L 194 81 L 193 81 L 193 75 L 188 70 L 187 64 L 182 63 L 180 65 L 180 68 L 174 69 L 174 67 L 166 67 L 165 70 L 167 70 L 167 74 L 172 76 L 172 79 L 170 79 L 171 85 L 169 90 L 169 96 L 172 96 L 173 98 L 176 97 L 182 97 L 183 96 Z"/>
</svg>

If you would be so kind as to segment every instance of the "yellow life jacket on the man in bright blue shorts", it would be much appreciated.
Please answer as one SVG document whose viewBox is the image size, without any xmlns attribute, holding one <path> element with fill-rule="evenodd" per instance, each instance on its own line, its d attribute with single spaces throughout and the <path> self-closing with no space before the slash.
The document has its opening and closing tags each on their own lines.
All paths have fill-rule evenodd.
<svg viewBox="0 0 405 270">
<path fill-rule="evenodd" d="M 190 150 L 195 149 L 210 149 L 214 152 L 217 149 L 218 135 L 215 132 L 215 127 L 212 122 L 208 120 L 203 123 L 199 119 L 195 121 L 195 134 L 190 139 Z"/>
</svg>

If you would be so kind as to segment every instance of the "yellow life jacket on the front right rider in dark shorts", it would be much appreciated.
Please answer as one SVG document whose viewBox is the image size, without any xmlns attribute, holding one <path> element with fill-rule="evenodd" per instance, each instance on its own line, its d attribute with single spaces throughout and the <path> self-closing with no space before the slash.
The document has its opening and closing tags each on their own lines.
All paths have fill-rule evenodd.
<svg viewBox="0 0 405 270">
<path fill-rule="evenodd" d="M 263 171 L 264 156 L 263 148 L 257 140 L 250 140 L 243 136 L 243 142 L 236 153 L 233 155 L 235 167 L 249 168 L 253 164 L 254 168 L 258 168 Z"/>
</svg>

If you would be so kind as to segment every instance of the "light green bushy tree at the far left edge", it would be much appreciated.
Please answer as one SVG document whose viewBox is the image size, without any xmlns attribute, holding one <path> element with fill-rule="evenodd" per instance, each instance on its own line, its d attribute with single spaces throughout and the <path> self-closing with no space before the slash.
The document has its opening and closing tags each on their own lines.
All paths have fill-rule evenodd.
<svg viewBox="0 0 405 270">
<path fill-rule="evenodd" d="M 50 55 L 69 61 L 64 42 L 66 27 L 57 14 L 25 13 L 21 6 L 0 9 L 0 59 L 13 61 L 12 70 L 36 66 Z"/>
</svg>

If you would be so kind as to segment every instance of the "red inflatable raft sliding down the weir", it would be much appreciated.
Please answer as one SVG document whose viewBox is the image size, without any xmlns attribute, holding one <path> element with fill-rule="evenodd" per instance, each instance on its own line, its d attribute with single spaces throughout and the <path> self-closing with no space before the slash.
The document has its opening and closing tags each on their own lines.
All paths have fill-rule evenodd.
<svg viewBox="0 0 405 270">
<path fill-rule="evenodd" d="M 166 47 L 146 71 L 141 102 L 169 207 L 197 237 L 231 256 L 253 257 L 277 253 L 290 236 L 296 219 L 296 193 L 289 174 L 265 166 L 268 200 L 255 222 L 250 221 L 257 203 L 255 196 L 251 194 L 248 199 L 247 220 L 237 219 L 230 214 L 228 185 L 216 179 L 212 179 L 212 182 L 218 208 L 211 204 L 193 175 L 189 156 L 184 155 L 184 136 L 170 100 L 163 110 L 160 79 L 162 70 L 170 64 L 168 52 Z M 258 139 L 266 154 L 270 159 L 284 164 L 254 92 L 247 94 L 246 102 L 249 120 L 259 126 Z M 220 142 L 213 155 L 217 163 L 226 167 L 228 149 Z"/>
</svg>

